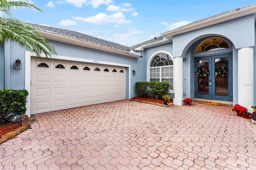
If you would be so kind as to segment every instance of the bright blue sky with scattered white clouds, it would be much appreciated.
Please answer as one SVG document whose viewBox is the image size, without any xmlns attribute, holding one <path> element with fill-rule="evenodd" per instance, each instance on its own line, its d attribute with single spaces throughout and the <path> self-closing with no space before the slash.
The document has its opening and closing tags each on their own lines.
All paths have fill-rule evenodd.
<svg viewBox="0 0 256 170">
<path fill-rule="evenodd" d="M 24 22 L 62 28 L 126 46 L 256 0 L 26 0 L 44 12 L 14 9 Z"/>
</svg>

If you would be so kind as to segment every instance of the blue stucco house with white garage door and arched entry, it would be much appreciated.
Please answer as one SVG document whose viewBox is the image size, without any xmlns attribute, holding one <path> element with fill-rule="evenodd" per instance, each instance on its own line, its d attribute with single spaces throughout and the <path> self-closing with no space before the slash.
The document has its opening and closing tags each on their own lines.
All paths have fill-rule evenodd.
<svg viewBox="0 0 256 170">
<path fill-rule="evenodd" d="M 15 42 L 0 46 L 0 88 L 29 91 L 26 114 L 130 99 L 138 81 L 167 81 L 184 98 L 256 105 L 256 4 L 127 47 L 31 24 L 56 49 L 42 60 Z M 14 63 L 21 62 L 21 69 Z"/>
</svg>

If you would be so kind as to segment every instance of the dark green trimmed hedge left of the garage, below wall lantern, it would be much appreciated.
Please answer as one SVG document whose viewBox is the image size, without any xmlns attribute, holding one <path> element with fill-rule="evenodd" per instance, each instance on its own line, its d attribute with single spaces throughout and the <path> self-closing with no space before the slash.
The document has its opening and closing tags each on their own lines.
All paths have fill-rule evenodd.
<svg viewBox="0 0 256 170">
<path fill-rule="evenodd" d="M 0 123 L 7 122 L 12 116 L 26 113 L 28 91 L 0 89 Z"/>
</svg>

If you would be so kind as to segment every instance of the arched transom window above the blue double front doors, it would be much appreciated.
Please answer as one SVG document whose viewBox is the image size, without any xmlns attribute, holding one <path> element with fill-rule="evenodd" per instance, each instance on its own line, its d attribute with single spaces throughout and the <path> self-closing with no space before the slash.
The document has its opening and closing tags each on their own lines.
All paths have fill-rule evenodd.
<svg viewBox="0 0 256 170">
<path fill-rule="evenodd" d="M 226 49 L 226 48 L 229 48 L 229 45 L 224 39 L 213 37 L 213 38 L 204 40 L 204 42 L 200 43 L 200 45 L 197 47 L 196 53 L 201 53 L 205 51 L 214 51 L 214 50 L 220 50 L 220 49 Z"/>
</svg>

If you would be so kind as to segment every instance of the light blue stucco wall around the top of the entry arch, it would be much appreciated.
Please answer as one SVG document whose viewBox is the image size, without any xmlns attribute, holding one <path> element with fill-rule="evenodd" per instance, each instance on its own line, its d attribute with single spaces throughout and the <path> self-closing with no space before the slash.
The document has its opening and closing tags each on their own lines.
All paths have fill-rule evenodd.
<svg viewBox="0 0 256 170">
<path fill-rule="evenodd" d="M 184 57 L 188 48 L 196 41 L 208 37 L 222 35 L 236 47 L 253 47 L 255 28 L 254 14 L 223 22 L 199 30 L 194 30 L 173 37 L 173 56 Z"/>
</svg>

